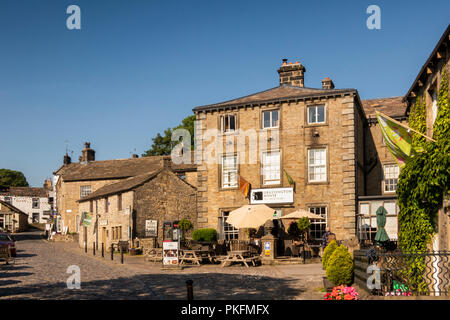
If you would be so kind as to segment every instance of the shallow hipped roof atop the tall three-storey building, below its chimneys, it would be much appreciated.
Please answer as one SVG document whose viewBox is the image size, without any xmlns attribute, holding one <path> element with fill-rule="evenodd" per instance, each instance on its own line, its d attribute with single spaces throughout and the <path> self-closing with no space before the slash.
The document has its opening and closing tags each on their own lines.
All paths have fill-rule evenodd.
<svg viewBox="0 0 450 320">
<path fill-rule="evenodd" d="M 282 102 L 301 98 L 336 96 L 356 92 L 356 89 L 315 89 L 295 87 L 290 85 L 280 85 L 278 87 L 257 92 L 241 98 L 210 105 L 198 106 L 195 107 L 193 111 L 210 111 L 217 109 L 227 109 L 231 107 L 251 106 L 262 103 Z"/>
</svg>

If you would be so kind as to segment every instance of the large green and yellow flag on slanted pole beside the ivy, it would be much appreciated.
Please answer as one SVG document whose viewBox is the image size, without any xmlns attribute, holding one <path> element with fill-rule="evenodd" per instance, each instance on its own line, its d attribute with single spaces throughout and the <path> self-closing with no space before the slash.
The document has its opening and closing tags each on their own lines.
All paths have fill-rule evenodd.
<svg viewBox="0 0 450 320">
<path fill-rule="evenodd" d="M 405 166 L 406 160 L 411 157 L 413 153 L 423 151 L 422 149 L 413 148 L 413 133 L 418 133 L 431 141 L 435 141 L 381 112 L 376 111 L 376 114 L 384 142 L 400 168 Z"/>
</svg>

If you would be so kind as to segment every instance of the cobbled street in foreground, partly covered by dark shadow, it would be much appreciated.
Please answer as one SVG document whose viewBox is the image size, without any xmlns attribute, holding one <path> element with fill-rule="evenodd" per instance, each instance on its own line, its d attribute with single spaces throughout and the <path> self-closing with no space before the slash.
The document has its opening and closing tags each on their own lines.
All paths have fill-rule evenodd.
<svg viewBox="0 0 450 320">
<path fill-rule="evenodd" d="M 186 280 L 194 281 L 194 298 L 322 299 L 320 264 L 245 268 L 219 265 L 163 270 L 141 257 L 101 258 L 75 243 L 48 242 L 39 232 L 15 235 L 15 264 L 0 262 L 0 299 L 186 299 Z M 67 268 L 78 266 L 81 289 L 68 289 Z"/>
</svg>

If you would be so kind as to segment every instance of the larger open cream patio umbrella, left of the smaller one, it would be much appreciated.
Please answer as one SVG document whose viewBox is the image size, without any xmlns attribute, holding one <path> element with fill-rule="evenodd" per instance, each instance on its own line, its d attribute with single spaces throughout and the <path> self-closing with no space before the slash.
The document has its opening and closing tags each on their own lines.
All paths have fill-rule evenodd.
<svg viewBox="0 0 450 320">
<path fill-rule="evenodd" d="M 228 216 L 227 223 L 236 229 L 257 229 L 267 220 L 274 219 L 275 210 L 265 204 L 245 205 L 233 210 Z"/>
</svg>

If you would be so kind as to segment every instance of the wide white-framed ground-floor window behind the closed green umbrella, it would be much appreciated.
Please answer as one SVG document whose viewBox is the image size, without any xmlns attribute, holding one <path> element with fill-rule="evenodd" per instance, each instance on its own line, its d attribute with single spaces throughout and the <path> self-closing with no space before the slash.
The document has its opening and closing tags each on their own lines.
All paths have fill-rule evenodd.
<svg viewBox="0 0 450 320">
<path fill-rule="evenodd" d="M 385 230 L 391 240 L 398 239 L 398 206 L 395 200 L 374 200 L 359 203 L 357 215 L 358 238 L 361 241 L 375 239 L 377 233 L 377 210 L 383 206 L 386 211 Z"/>
</svg>

